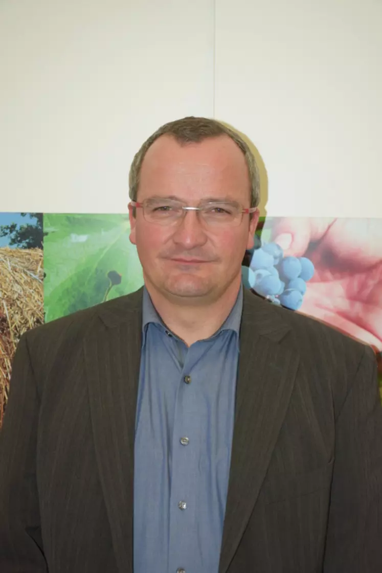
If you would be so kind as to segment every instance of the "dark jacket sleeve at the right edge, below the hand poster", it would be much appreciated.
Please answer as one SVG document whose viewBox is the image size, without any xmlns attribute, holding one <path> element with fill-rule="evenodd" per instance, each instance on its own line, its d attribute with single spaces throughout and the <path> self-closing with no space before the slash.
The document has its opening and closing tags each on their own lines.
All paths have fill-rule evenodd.
<svg viewBox="0 0 382 573">
<path fill-rule="evenodd" d="M 365 346 L 337 415 L 324 573 L 382 571 L 382 407 Z"/>
</svg>

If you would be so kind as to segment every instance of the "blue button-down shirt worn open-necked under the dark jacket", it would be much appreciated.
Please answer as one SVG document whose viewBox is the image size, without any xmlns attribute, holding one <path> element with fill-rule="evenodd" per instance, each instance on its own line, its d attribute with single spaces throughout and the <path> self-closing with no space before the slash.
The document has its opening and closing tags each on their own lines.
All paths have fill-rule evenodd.
<svg viewBox="0 0 382 573">
<path fill-rule="evenodd" d="M 217 573 L 227 500 L 243 288 L 190 347 L 143 291 L 134 461 L 134 573 Z"/>
</svg>

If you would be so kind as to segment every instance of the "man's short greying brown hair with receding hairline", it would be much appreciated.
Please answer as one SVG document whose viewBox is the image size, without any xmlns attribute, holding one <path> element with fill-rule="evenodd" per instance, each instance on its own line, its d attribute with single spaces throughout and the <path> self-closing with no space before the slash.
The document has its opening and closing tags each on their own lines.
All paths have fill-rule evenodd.
<svg viewBox="0 0 382 573">
<path fill-rule="evenodd" d="M 128 177 L 129 196 L 131 201 L 137 201 L 139 176 L 141 174 L 142 162 L 149 147 L 161 135 L 171 135 L 178 143 L 199 143 L 206 138 L 216 138 L 221 135 L 228 135 L 244 154 L 245 163 L 248 166 L 248 174 L 251 182 L 251 207 L 257 207 L 260 202 L 260 178 L 259 168 L 256 159 L 248 144 L 233 129 L 206 117 L 183 117 L 176 121 L 165 123 L 150 135 L 143 143 L 141 149 L 135 154 L 130 167 Z"/>
</svg>

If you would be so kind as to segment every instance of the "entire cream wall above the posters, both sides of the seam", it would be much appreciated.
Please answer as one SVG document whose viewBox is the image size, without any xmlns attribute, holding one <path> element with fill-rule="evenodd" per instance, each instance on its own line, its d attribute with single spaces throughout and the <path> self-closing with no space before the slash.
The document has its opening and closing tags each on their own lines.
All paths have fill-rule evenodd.
<svg viewBox="0 0 382 573">
<path fill-rule="evenodd" d="M 0 211 L 124 212 L 143 140 L 243 131 L 269 215 L 382 217 L 382 2 L 2 0 Z"/>
</svg>

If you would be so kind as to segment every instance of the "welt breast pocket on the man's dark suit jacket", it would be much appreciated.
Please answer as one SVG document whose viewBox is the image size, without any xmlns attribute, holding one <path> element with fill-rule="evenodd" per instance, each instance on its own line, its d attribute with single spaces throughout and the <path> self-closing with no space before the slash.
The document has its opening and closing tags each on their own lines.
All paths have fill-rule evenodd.
<svg viewBox="0 0 382 573">
<path fill-rule="evenodd" d="M 325 466 L 295 475 L 278 473 L 267 476 L 262 487 L 264 503 L 271 504 L 330 488 L 333 463 L 334 460 L 331 460 Z"/>
</svg>

